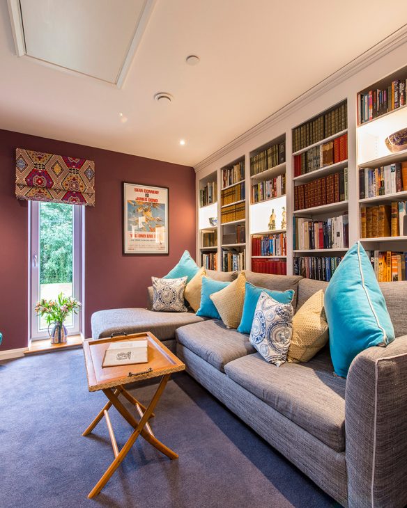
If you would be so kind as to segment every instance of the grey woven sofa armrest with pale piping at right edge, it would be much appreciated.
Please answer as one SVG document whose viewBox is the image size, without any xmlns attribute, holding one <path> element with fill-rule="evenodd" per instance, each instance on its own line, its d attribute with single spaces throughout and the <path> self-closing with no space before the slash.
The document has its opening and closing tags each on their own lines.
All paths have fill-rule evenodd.
<svg viewBox="0 0 407 508">
<path fill-rule="evenodd" d="M 407 503 L 407 335 L 370 347 L 346 380 L 349 507 Z"/>
</svg>

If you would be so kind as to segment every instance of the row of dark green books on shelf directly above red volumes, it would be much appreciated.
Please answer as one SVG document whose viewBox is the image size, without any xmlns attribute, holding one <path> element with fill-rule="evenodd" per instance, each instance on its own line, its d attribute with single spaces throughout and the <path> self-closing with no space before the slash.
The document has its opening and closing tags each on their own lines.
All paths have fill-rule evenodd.
<svg viewBox="0 0 407 508">
<path fill-rule="evenodd" d="M 346 111 L 346 102 L 344 102 L 332 111 L 321 113 L 314 120 L 309 120 L 293 129 L 293 152 L 344 131 L 348 126 Z"/>
</svg>

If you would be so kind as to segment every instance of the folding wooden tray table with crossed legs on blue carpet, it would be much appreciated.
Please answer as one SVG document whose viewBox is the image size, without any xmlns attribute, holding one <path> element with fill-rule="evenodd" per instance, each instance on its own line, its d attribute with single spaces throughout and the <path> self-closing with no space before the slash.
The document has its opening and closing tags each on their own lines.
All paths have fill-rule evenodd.
<svg viewBox="0 0 407 508">
<path fill-rule="evenodd" d="M 115 367 L 102 367 L 105 351 L 107 347 L 109 347 L 109 344 L 114 341 L 123 342 L 125 340 L 148 340 L 148 362 L 136 363 L 133 365 L 118 365 Z M 90 434 L 98 422 L 105 417 L 114 452 L 114 461 L 110 464 L 105 474 L 102 475 L 99 482 L 93 487 L 88 495 L 88 498 L 93 498 L 103 489 L 105 484 L 109 481 L 109 478 L 112 477 L 114 471 L 128 454 L 132 445 L 135 444 L 139 435 L 157 448 L 157 450 L 160 450 L 160 452 L 164 455 L 167 455 L 169 459 L 178 459 L 178 455 L 175 452 L 170 450 L 154 436 L 153 431 L 148 424 L 148 419 L 154 416 L 154 408 L 157 405 L 171 374 L 173 372 L 185 370 L 185 365 L 150 332 L 134 333 L 132 335 L 119 335 L 114 338 L 111 337 L 106 339 L 87 339 L 84 340 L 83 346 L 89 391 L 95 392 L 102 390 L 109 401 L 100 410 L 95 420 L 91 422 L 82 436 Z M 135 397 L 133 397 L 124 388 L 124 386 L 128 383 L 135 383 L 135 381 L 141 381 L 143 379 L 150 379 L 158 376 L 162 376 L 162 379 L 147 407 L 143 406 L 141 402 L 135 399 Z M 123 405 L 119 399 L 120 395 L 125 397 L 132 406 L 135 406 L 139 415 L 138 420 Z M 120 451 L 117 447 L 116 438 L 114 437 L 114 431 L 108 413 L 109 408 L 112 406 L 114 406 L 118 413 L 120 413 L 134 428 L 130 438 L 128 438 Z"/>
</svg>

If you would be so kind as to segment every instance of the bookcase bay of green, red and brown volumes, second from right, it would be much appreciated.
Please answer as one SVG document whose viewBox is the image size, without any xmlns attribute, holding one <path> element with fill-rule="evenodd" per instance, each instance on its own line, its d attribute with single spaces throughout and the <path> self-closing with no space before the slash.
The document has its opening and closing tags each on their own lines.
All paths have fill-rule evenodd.
<svg viewBox="0 0 407 508">
<path fill-rule="evenodd" d="M 348 248 L 347 118 L 344 100 L 292 132 L 296 275 L 330 280 Z"/>
</svg>

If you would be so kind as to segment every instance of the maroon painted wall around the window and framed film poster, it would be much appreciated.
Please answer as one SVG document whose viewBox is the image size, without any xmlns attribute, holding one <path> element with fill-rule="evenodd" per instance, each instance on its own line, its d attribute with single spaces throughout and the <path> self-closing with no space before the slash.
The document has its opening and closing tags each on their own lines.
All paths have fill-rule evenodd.
<svg viewBox="0 0 407 508">
<path fill-rule="evenodd" d="M 25 347 L 28 203 L 15 198 L 15 148 L 95 161 L 95 207 L 85 210 L 85 334 L 96 310 L 146 305 L 151 276 L 195 253 L 193 168 L 0 129 L 0 349 Z M 122 182 L 169 187 L 169 255 L 122 254 Z"/>
</svg>

